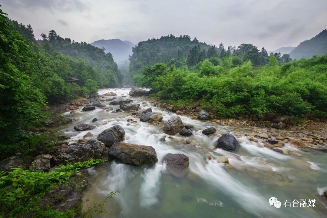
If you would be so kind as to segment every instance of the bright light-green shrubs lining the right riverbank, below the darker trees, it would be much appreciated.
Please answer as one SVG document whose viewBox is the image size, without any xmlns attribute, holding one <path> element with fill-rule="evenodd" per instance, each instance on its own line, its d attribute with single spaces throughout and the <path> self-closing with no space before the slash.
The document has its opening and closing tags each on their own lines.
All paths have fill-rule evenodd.
<svg viewBox="0 0 327 218">
<path fill-rule="evenodd" d="M 222 117 L 246 111 L 259 117 L 264 113 L 327 117 L 327 56 L 283 66 L 270 56 L 267 65 L 256 69 L 250 61 L 234 68 L 208 62 L 202 62 L 199 71 L 158 63 L 141 70 L 137 81 L 169 103 L 201 101 Z"/>
</svg>

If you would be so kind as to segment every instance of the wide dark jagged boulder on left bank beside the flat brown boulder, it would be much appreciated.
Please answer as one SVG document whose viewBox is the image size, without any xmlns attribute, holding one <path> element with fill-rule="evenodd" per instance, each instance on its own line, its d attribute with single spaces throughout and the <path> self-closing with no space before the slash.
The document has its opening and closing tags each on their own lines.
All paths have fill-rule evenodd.
<svg viewBox="0 0 327 218">
<path fill-rule="evenodd" d="M 86 161 L 90 158 L 101 158 L 105 155 L 106 147 L 96 139 L 84 143 L 72 143 L 67 147 L 60 147 L 53 155 L 53 161 L 59 165 L 61 163 L 75 163 Z"/>
</svg>

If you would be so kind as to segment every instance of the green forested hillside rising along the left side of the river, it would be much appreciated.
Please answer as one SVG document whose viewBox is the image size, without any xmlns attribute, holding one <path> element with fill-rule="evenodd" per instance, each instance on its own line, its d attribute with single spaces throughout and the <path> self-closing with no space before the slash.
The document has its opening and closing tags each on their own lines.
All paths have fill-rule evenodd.
<svg viewBox="0 0 327 218">
<path fill-rule="evenodd" d="M 30 25 L 26 27 L 10 22 L 7 14 L 0 9 L 2 155 L 14 151 L 14 147 L 18 146 L 15 142 L 29 137 L 25 130 L 44 118 L 41 109 L 47 101 L 67 100 L 96 93 L 99 86 L 119 85 L 112 70 L 117 65 L 112 56 L 101 49 L 87 43 L 70 42 L 70 39 L 62 39 L 53 31 L 44 37 L 40 45 L 33 39 Z M 117 70 L 115 72 L 120 74 Z M 68 77 L 80 79 L 83 86 L 66 83 Z"/>
</svg>

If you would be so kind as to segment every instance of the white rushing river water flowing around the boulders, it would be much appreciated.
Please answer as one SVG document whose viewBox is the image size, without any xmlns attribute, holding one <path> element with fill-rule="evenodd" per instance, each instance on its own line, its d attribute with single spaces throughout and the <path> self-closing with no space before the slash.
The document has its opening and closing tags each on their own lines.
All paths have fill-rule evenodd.
<svg viewBox="0 0 327 218">
<path fill-rule="evenodd" d="M 130 89 L 102 89 L 99 93 L 115 92 L 127 95 Z M 143 106 L 143 97 L 132 98 Z M 152 107 L 152 111 L 163 115 L 166 122 L 174 113 Z M 279 154 L 268 148 L 260 147 L 262 141 L 251 142 L 248 137 L 238 137 L 241 147 L 235 152 L 214 149 L 214 142 L 223 133 L 234 136 L 250 133 L 253 129 L 240 129 L 230 126 L 191 120 L 181 116 L 183 124 L 192 124 L 196 131 L 193 136 L 173 136 L 167 138 L 162 127 L 140 122 L 128 112 L 111 113 L 96 108 L 92 111 L 79 110 L 76 114 L 65 116 L 78 118 L 72 124 L 64 126 L 62 131 L 70 134 L 70 142 L 83 138 L 87 132 L 96 136 L 104 129 L 119 124 L 125 129 L 127 143 L 150 145 L 155 148 L 158 162 L 154 165 L 132 166 L 116 161 L 88 169 L 91 187 L 84 192 L 83 201 L 88 203 L 101 201 L 111 191 L 120 193 L 116 200 L 108 200 L 104 207 L 109 214 L 95 217 L 326 217 L 326 200 L 320 194 L 327 189 L 327 160 L 321 151 L 303 152 L 285 145 L 302 157 Z M 78 123 L 92 123 L 97 128 L 77 132 L 73 126 Z M 129 123 L 127 119 L 137 120 Z M 218 136 L 203 135 L 202 129 L 215 126 Z M 165 142 L 159 139 L 166 135 Z M 199 143 L 197 150 L 177 149 L 176 139 L 192 139 Z M 259 145 L 259 146 L 258 146 Z M 167 153 L 183 153 L 189 157 L 189 173 L 176 178 L 165 173 L 162 163 Z M 210 154 L 212 159 L 205 159 Z M 228 157 L 232 168 L 216 161 L 218 156 Z M 268 199 L 276 197 L 282 202 L 281 208 L 269 206 Z M 284 200 L 316 199 L 316 207 L 284 207 Z M 300 204 L 299 204 L 300 206 Z M 84 209 L 87 203 L 84 204 Z"/>
</svg>

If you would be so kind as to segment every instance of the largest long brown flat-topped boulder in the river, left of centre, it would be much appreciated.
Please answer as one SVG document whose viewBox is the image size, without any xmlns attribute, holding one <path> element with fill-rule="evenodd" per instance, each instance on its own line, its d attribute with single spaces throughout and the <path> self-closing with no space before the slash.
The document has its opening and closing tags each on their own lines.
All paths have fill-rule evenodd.
<svg viewBox="0 0 327 218">
<path fill-rule="evenodd" d="M 157 153 L 151 146 L 118 142 L 108 150 L 109 156 L 124 163 L 142 165 L 158 162 Z"/>
</svg>

